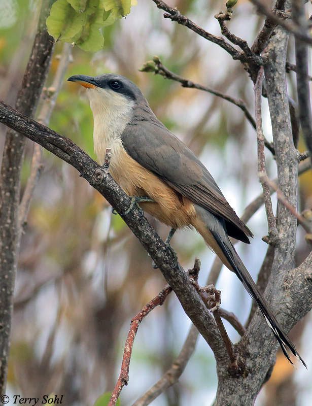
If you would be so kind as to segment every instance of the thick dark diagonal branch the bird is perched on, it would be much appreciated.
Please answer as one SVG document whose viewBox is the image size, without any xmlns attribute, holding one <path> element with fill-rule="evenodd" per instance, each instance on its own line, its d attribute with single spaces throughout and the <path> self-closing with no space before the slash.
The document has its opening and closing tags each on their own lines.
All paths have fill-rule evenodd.
<svg viewBox="0 0 312 406">
<path fill-rule="evenodd" d="M 25 137 L 41 144 L 54 155 L 74 166 L 81 175 L 98 190 L 119 213 L 125 213 L 131 199 L 113 180 L 105 168 L 98 165 L 70 139 L 28 118 L 0 101 L 0 122 L 19 131 Z M 201 297 L 189 283 L 189 278 L 170 249 L 156 234 L 145 217 L 136 208 L 123 216 L 123 220 L 140 240 L 155 261 L 167 283 L 175 291 L 182 307 L 207 343 L 217 361 L 217 369 L 226 368 L 228 357 L 215 321 L 206 309 Z"/>
</svg>

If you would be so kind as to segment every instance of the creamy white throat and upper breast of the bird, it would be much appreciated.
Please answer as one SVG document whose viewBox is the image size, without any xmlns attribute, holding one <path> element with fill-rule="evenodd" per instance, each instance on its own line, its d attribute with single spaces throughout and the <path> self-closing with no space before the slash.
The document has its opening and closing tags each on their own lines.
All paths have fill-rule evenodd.
<svg viewBox="0 0 312 406">
<path fill-rule="evenodd" d="M 93 113 L 94 152 L 102 164 L 106 148 L 112 149 L 112 156 L 120 154 L 121 134 L 131 121 L 134 101 L 110 89 L 87 89 Z"/>
</svg>

